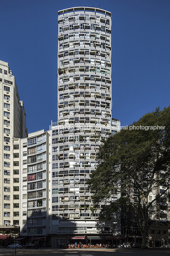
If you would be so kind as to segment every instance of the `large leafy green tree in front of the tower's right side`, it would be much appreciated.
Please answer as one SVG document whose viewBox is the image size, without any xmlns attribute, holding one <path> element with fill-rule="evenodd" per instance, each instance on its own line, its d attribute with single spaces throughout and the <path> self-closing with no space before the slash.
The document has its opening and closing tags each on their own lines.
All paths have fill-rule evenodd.
<svg viewBox="0 0 170 256">
<path fill-rule="evenodd" d="M 160 219 L 160 198 L 170 198 L 170 107 L 156 108 L 110 136 L 100 147 L 98 160 L 89 181 L 94 205 L 120 194 L 116 202 L 103 207 L 100 216 L 108 219 L 118 208 L 131 209 L 144 248 L 150 212 L 155 209 L 154 218 Z"/>
</svg>

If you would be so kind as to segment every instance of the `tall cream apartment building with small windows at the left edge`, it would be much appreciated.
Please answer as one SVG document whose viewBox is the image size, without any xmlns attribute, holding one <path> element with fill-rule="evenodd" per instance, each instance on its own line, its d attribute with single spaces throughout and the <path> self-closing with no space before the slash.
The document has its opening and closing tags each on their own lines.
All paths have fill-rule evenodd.
<svg viewBox="0 0 170 256">
<path fill-rule="evenodd" d="M 27 137 L 23 102 L 8 63 L 0 61 L 0 231 L 7 233 L 20 226 L 21 137 Z"/>
</svg>

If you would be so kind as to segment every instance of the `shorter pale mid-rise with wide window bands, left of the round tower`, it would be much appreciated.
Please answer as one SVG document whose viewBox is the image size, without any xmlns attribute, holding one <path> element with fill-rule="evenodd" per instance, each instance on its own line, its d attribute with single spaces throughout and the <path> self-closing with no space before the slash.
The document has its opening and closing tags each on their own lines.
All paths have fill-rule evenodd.
<svg viewBox="0 0 170 256">
<path fill-rule="evenodd" d="M 20 235 L 28 236 L 30 241 L 50 234 L 50 133 L 40 130 L 20 139 Z"/>
</svg>

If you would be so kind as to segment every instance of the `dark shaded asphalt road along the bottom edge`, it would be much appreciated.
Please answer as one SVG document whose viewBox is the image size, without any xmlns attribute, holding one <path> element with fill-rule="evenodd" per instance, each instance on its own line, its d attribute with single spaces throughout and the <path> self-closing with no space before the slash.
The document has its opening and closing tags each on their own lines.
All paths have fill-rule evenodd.
<svg viewBox="0 0 170 256">
<path fill-rule="evenodd" d="M 16 255 L 30 256 L 169 256 L 170 249 L 16 249 Z M 0 256 L 15 255 L 15 249 L 0 249 Z"/>
</svg>

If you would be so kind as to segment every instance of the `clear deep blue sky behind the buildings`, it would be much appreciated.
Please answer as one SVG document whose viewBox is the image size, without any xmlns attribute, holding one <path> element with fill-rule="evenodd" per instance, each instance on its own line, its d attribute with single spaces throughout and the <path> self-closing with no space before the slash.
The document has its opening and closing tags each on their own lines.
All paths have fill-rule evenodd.
<svg viewBox="0 0 170 256">
<path fill-rule="evenodd" d="M 58 11 L 112 13 L 112 114 L 121 125 L 170 105 L 170 0 L 1 0 L 0 60 L 10 65 L 28 132 L 57 120 Z"/>
</svg>

